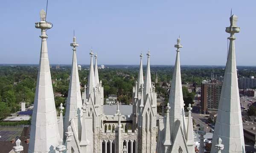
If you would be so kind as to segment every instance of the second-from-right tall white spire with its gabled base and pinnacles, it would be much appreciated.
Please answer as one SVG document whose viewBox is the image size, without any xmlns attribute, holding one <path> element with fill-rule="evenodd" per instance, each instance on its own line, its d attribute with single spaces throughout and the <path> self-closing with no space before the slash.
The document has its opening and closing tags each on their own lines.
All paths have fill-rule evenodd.
<svg viewBox="0 0 256 153">
<path fill-rule="evenodd" d="M 157 153 L 195 153 L 193 123 L 189 105 L 189 116 L 185 117 L 180 74 L 180 38 L 177 39 L 175 68 L 169 94 L 166 116 L 159 117 Z M 170 110 L 170 111 L 169 111 Z"/>
</svg>

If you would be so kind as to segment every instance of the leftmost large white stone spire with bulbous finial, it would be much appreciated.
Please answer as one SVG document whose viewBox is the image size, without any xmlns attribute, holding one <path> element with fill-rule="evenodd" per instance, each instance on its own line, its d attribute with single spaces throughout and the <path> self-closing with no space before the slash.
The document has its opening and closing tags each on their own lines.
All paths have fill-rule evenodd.
<svg viewBox="0 0 256 153">
<path fill-rule="evenodd" d="M 41 21 L 35 23 L 35 28 L 41 29 L 42 42 L 30 130 L 29 153 L 54 151 L 60 140 L 47 50 L 46 30 L 52 28 L 52 23 L 46 21 L 44 10 L 40 11 L 40 18 Z"/>
</svg>

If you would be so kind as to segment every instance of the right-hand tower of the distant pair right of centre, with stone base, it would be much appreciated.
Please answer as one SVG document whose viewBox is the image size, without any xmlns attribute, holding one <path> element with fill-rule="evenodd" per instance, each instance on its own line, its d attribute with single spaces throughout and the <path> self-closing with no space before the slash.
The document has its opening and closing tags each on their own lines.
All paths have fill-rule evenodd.
<svg viewBox="0 0 256 153">
<path fill-rule="evenodd" d="M 157 94 L 151 85 L 150 52 L 145 83 L 140 85 L 140 115 L 138 116 L 138 153 L 153 153 L 156 150 Z"/>
</svg>

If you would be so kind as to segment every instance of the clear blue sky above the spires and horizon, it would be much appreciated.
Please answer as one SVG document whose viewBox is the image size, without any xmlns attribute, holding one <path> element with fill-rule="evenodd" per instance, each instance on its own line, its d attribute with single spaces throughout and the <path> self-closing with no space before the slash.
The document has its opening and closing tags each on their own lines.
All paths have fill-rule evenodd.
<svg viewBox="0 0 256 153">
<path fill-rule="evenodd" d="M 50 64 L 71 64 L 75 29 L 79 64 L 89 64 L 90 48 L 99 64 L 174 65 L 177 37 L 181 65 L 225 65 L 230 9 L 241 28 L 236 34 L 237 65 L 256 65 L 255 0 L 49 0 Z M 38 64 L 39 11 L 46 0 L 0 1 L 0 63 Z"/>
</svg>

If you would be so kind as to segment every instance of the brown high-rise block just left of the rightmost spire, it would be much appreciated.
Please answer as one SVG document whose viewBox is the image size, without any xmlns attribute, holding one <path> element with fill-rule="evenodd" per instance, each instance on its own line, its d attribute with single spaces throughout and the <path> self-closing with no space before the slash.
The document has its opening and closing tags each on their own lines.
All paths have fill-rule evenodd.
<svg viewBox="0 0 256 153">
<path fill-rule="evenodd" d="M 221 96 L 222 81 L 215 79 L 201 84 L 201 113 L 217 112 Z"/>
</svg>

